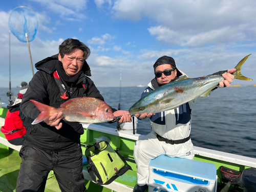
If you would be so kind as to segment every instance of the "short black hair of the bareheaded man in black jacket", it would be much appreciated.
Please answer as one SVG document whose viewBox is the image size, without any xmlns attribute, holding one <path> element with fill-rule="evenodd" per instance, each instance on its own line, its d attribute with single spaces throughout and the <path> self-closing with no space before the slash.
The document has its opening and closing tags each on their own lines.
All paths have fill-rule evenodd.
<svg viewBox="0 0 256 192">
<path fill-rule="evenodd" d="M 62 42 L 62 44 L 59 46 L 59 54 L 61 58 L 63 58 L 65 54 L 71 53 L 74 49 L 80 49 L 83 51 L 84 60 L 86 60 L 91 54 L 89 47 L 87 47 L 85 44 L 83 44 L 83 42 L 79 41 L 78 39 L 72 38 L 68 38 Z"/>
</svg>

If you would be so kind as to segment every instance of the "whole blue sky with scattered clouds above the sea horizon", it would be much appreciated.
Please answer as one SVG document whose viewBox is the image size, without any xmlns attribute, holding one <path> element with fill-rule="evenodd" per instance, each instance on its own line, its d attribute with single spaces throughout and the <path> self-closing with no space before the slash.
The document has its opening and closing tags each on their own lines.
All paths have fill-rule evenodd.
<svg viewBox="0 0 256 192">
<path fill-rule="evenodd" d="M 256 79 L 254 0 L 12 0 L 0 7 L 0 87 L 9 87 L 8 19 L 19 6 L 31 8 L 38 20 L 30 42 L 33 65 L 58 53 L 63 40 L 77 38 L 91 49 L 87 62 L 97 87 L 118 87 L 120 71 L 122 87 L 146 86 L 163 55 L 195 78 L 232 69 L 252 54 L 242 74 Z M 12 33 L 10 39 L 11 84 L 16 87 L 31 80 L 32 70 L 27 43 Z"/>
</svg>

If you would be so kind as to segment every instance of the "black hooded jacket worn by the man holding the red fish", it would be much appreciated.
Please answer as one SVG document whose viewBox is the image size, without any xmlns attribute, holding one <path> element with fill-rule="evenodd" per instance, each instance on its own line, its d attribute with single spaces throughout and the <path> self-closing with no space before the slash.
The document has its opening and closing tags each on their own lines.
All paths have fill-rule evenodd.
<svg viewBox="0 0 256 192">
<path fill-rule="evenodd" d="M 37 70 L 32 80 L 29 82 L 29 88 L 20 104 L 20 111 L 30 118 L 27 123 L 27 133 L 25 135 L 24 145 L 34 145 L 44 150 L 65 150 L 68 147 L 76 147 L 80 143 L 80 135 L 83 128 L 78 122 L 68 122 L 61 120 L 62 127 L 57 130 L 55 127 L 47 125 L 44 121 L 32 125 L 34 119 L 40 114 L 34 103 L 35 100 L 58 108 L 60 104 L 67 101 L 62 99 L 60 89 L 55 82 L 53 72 L 58 61 L 58 55 L 53 55 L 35 64 Z M 104 100 L 93 81 L 84 74 L 91 75 L 87 62 L 84 62 L 80 75 L 76 84 L 67 84 L 62 81 L 69 91 L 70 98 L 76 97 L 94 97 Z M 81 82 L 86 79 L 87 89 L 84 89 Z M 84 81 L 85 82 L 85 81 Z M 113 112 L 116 110 L 113 109 Z"/>
</svg>

